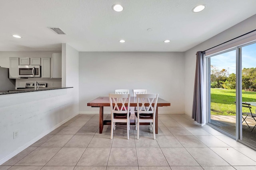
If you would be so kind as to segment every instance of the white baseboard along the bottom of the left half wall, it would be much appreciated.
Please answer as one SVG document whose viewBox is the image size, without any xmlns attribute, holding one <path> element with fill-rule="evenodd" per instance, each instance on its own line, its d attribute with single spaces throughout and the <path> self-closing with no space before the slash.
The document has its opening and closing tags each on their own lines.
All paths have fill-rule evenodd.
<svg viewBox="0 0 256 170">
<path fill-rule="evenodd" d="M 67 119 L 65 119 L 64 121 L 58 123 L 57 125 L 55 125 L 51 129 L 49 129 L 48 131 L 42 133 L 41 135 L 39 135 L 36 138 L 32 139 L 31 141 L 29 141 L 25 145 L 23 145 L 23 146 L 19 147 L 18 149 L 16 149 L 14 152 L 12 152 L 12 153 L 8 154 L 7 156 L 5 156 L 4 158 L 0 159 L 0 165 L 2 165 L 4 162 L 9 160 L 10 158 L 15 156 L 16 154 L 20 153 L 22 150 L 26 149 L 27 147 L 29 147 L 30 145 L 32 145 L 33 143 L 35 143 L 36 141 L 38 141 L 39 139 L 41 139 L 42 137 L 44 137 L 45 135 L 50 133 L 51 131 L 57 129 L 58 127 L 60 127 L 61 125 L 63 125 L 64 123 L 66 123 L 67 121 L 69 121 L 70 119 L 72 119 L 73 117 L 75 117 L 78 114 L 79 114 L 79 112 L 77 112 L 74 115 L 68 117 Z"/>
</svg>

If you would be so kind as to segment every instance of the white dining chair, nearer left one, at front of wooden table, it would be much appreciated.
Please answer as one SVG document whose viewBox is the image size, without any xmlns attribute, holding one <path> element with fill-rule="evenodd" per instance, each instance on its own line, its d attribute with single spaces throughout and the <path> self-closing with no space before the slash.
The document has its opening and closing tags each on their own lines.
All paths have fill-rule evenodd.
<svg viewBox="0 0 256 170">
<path fill-rule="evenodd" d="M 111 136 L 116 129 L 116 122 L 126 122 L 127 139 L 129 139 L 130 130 L 130 94 L 109 94 L 110 112 L 111 112 Z M 125 104 L 127 103 L 127 106 Z"/>
</svg>

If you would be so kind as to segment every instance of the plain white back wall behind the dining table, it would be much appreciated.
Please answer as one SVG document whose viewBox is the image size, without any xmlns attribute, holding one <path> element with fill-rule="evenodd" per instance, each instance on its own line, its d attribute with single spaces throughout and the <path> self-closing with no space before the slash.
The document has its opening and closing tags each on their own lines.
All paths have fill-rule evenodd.
<svg viewBox="0 0 256 170">
<path fill-rule="evenodd" d="M 87 103 L 115 89 L 147 89 L 171 103 L 159 113 L 184 113 L 184 53 L 80 52 L 79 111 L 98 113 Z"/>
</svg>

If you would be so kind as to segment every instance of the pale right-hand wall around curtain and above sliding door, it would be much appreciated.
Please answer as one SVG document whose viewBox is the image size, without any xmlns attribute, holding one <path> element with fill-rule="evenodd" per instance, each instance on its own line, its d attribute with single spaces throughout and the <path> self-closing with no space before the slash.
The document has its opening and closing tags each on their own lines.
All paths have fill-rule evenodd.
<svg viewBox="0 0 256 170">
<path fill-rule="evenodd" d="M 204 26 L 204 25 L 202 25 Z M 207 25 L 206 25 L 207 26 Z M 185 114 L 192 116 L 192 104 L 194 93 L 194 78 L 196 70 L 196 52 L 205 51 L 211 47 L 224 43 L 230 39 L 248 33 L 256 29 L 256 15 L 244 20 L 226 31 L 208 39 L 207 41 L 185 52 Z"/>
</svg>

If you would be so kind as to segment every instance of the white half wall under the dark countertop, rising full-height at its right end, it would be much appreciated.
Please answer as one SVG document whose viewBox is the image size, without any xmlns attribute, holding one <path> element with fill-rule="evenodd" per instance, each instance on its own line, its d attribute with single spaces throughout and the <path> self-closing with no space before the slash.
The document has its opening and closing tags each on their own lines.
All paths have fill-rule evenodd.
<svg viewBox="0 0 256 170">
<path fill-rule="evenodd" d="M 0 164 L 78 114 L 78 51 L 64 46 L 65 84 L 74 88 L 0 95 Z"/>
</svg>

